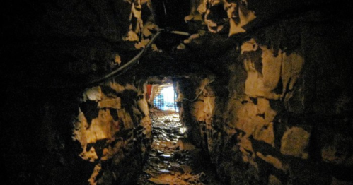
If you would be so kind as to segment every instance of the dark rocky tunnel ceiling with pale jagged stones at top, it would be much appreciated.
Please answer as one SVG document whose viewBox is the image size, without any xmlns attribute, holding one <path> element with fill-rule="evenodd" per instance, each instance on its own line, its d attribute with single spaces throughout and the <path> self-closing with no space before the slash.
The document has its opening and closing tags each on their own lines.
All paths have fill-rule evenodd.
<svg viewBox="0 0 353 185">
<path fill-rule="evenodd" d="M 224 61 L 217 59 L 250 35 L 261 38 L 261 28 L 315 10 L 323 14 L 308 21 L 316 21 L 315 16 L 340 21 L 347 17 L 347 7 L 316 0 L 11 1 L 2 11 L 6 62 L 1 71 L 8 81 L 34 86 L 52 85 L 53 79 L 59 84 L 88 82 L 127 63 L 158 29 L 167 28 L 190 36 L 163 32 L 130 74 L 221 72 L 224 68 L 214 66 Z M 292 27 L 287 31 L 298 31 Z M 293 40 L 287 38 L 285 47 L 295 47 Z"/>
</svg>

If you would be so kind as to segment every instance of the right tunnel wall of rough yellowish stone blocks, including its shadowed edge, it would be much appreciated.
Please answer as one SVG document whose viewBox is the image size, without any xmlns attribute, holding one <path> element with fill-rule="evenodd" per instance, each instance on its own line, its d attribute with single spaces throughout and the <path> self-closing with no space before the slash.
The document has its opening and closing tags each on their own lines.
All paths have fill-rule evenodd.
<svg viewBox="0 0 353 185">
<path fill-rule="evenodd" d="M 190 126 L 225 184 L 352 184 L 352 26 L 332 12 L 280 18 L 204 61 L 228 72 L 190 105 Z"/>
</svg>

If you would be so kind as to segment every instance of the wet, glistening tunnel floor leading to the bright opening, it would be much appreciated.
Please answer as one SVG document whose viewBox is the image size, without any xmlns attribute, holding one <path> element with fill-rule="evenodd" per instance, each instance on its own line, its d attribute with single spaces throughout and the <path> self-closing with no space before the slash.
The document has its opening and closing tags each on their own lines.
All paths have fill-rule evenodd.
<svg viewBox="0 0 353 185">
<path fill-rule="evenodd" d="M 178 113 L 151 112 L 153 143 L 138 184 L 221 184 L 211 162 L 187 141 Z"/>
</svg>

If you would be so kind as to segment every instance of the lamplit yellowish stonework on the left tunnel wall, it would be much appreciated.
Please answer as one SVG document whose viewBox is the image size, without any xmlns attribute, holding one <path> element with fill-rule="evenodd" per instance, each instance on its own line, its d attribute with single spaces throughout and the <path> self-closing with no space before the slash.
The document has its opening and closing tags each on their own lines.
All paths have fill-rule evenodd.
<svg viewBox="0 0 353 185">
<path fill-rule="evenodd" d="M 83 93 L 73 139 L 82 160 L 95 164 L 90 184 L 131 184 L 151 144 L 144 83 L 109 83 Z"/>
</svg>

